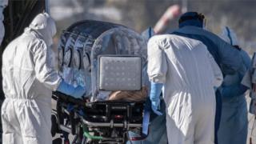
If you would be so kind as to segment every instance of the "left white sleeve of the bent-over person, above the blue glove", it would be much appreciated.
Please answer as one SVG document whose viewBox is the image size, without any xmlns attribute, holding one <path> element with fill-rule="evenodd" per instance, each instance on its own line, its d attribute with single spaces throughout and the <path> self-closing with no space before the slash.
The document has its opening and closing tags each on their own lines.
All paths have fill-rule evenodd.
<svg viewBox="0 0 256 144">
<path fill-rule="evenodd" d="M 159 45 L 161 41 L 157 36 L 150 38 L 147 45 L 148 53 L 148 69 L 150 82 L 165 83 L 167 73 L 166 54 L 162 46 Z"/>
</svg>

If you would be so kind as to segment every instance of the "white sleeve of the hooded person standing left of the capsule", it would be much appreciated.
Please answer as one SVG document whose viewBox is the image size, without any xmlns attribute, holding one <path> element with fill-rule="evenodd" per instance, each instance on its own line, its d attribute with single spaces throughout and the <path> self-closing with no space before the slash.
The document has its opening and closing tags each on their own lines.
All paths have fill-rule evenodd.
<svg viewBox="0 0 256 144">
<path fill-rule="evenodd" d="M 42 82 L 50 90 L 57 90 L 62 78 L 58 75 L 50 64 L 49 54 L 45 42 L 38 42 L 37 48 L 34 49 L 34 70 L 35 76 L 39 82 Z"/>
</svg>

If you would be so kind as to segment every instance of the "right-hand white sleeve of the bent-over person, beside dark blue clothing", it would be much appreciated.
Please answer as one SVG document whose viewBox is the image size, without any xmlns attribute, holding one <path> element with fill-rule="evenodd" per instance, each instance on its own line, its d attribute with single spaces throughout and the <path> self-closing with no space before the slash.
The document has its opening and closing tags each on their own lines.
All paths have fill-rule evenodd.
<svg viewBox="0 0 256 144">
<path fill-rule="evenodd" d="M 208 58 L 210 60 L 210 65 L 212 70 L 214 71 L 214 86 L 221 86 L 223 82 L 222 70 L 218 67 L 218 64 L 215 62 L 213 56 L 207 51 Z"/>
</svg>

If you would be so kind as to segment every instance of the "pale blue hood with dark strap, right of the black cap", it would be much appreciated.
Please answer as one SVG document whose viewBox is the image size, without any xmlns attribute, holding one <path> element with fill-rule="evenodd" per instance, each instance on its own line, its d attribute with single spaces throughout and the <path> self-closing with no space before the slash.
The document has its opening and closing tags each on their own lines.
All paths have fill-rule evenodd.
<svg viewBox="0 0 256 144">
<path fill-rule="evenodd" d="M 230 29 L 228 26 L 225 26 L 222 29 L 220 37 L 232 46 L 239 46 L 237 34 L 235 34 L 234 30 Z"/>
</svg>

